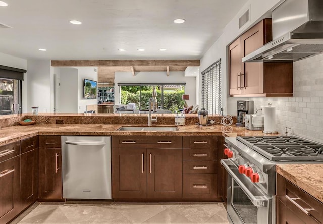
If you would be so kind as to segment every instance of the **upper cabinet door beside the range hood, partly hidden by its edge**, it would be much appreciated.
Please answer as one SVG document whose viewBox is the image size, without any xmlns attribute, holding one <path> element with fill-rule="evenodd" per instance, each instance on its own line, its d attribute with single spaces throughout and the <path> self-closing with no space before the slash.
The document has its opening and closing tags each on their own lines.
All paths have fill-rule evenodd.
<svg viewBox="0 0 323 224">
<path fill-rule="evenodd" d="M 265 39 L 266 24 L 271 24 L 270 19 L 262 20 L 241 36 L 241 56 L 257 50 L 268 41 Z M 264 93 L 263 62 L 242 63 L 241 68 L 241 94 Z"/>
</svg>

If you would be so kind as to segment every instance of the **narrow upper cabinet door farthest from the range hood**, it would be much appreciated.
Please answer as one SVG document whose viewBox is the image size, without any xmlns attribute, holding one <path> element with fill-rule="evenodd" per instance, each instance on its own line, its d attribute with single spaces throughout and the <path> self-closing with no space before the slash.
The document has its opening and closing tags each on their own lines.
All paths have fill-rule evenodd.
<svg viewBox="0 0 323 224">
<path fill-rule="evenodd" d="M 241 93 L 241 37 L 229 46 L 229 82 L 230 95 Z"/>
</svg>

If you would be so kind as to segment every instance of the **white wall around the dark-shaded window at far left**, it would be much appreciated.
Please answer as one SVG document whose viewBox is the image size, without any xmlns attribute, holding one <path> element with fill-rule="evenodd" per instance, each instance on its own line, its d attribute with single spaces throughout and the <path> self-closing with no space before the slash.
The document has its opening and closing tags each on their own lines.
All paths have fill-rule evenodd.
<svg viewBox="0 0 323 224">
<path fill-rule="evenodd" d="M 0 53 L 0 65 L 14 67 L 27 70 L 27 60 L 14 57 L 9 54 Z M 24 73 L 24 81 L 22 81 L 22 112 L 27 111 L 27 73 Z"/>
</svg>

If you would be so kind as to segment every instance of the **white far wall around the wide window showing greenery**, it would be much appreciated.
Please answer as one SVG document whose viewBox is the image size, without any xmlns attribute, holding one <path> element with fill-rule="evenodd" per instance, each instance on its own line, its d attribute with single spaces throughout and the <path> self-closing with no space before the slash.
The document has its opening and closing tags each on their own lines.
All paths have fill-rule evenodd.
<svg viewBox="0 0 323 224">
<path fill-rule="evenodd" d="M 195 77 L 185 77 L 184 72 L 170 72 L 167 76 L 166 72 L 136 72 L 133 76 L 131 72 L 116 72 L 115 73 L 115 103 L 119 104 L 119 86 L 118 83 L 186 83 L 185 94 L 190 95 L 190 99 L 186 100 L 188 105 L 196 104 L 196 85 Z"/>
</svg>

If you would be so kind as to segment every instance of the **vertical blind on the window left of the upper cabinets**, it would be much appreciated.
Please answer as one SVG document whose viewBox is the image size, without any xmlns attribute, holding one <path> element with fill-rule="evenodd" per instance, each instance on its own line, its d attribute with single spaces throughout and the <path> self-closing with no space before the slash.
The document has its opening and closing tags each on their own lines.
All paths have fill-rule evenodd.
<svg viewBox="0 0 323 224">
<path fill-rule="evenodd" d="M 209 114 L 220 114 L 221 59 L 202 72 L 202 106 Z"/>
</svg>

